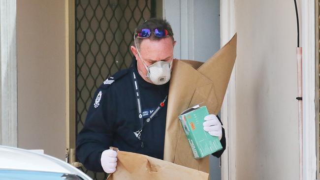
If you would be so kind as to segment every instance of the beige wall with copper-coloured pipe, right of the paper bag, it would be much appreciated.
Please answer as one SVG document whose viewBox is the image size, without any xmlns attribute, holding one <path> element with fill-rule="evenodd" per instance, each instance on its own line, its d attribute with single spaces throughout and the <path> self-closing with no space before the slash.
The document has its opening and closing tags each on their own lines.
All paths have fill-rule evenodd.
<svg viewBox="0 0 320 180">
<path fill-rule="evenodd" d="M 235 10 L 237 180 L 298 180 L 293 0 L 236 0 Z"/>
</svg>

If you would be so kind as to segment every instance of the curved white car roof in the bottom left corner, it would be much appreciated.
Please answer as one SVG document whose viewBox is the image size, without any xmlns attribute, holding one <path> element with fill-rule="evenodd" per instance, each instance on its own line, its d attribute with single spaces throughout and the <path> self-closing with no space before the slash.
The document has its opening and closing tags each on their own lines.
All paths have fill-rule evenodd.
<svg viewBox="0 0 320 180">
<path fill-rule="evenodd" d="M 77 168 L 55 157 L 6 146 L 0 146 L 0 169 L 81 174 L 88 177 Z"/>
</svg>

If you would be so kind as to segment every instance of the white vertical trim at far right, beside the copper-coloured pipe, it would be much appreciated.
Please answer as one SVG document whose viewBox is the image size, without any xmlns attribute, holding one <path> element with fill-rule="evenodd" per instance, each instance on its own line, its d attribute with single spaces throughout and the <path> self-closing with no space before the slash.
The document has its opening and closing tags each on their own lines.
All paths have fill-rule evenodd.
<svg viewBox="0 0 320 180">
<path fill-rule="evenodd" d="M 317 4 L 318 5 L 318 4 Z M 315 180 L 316 107 L 315 107 L 315 1 L 302 0 L 302 97 L 303 97 L 303 180 Z M 318 67 L 317 67 L 318 68 Z M 317 115 L 319 116 L 319 115 Z M 319 125 L 319 124 L 318 124 Z M 319 147 L 318 147 L 319 148 Z M 319 157 L 318 157 L 319 158 Z"/>
</svg>

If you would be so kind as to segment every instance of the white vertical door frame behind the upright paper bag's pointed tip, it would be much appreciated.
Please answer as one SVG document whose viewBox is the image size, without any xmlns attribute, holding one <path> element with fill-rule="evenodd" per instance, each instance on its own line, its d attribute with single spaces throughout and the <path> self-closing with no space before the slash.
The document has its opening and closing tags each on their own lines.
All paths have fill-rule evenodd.
<svg viewBox="0 0 320 180">
<path fill-rule="evenodd" d="M 220 0 L 220 18 L 221 46 L 223 46 L 235 33 L 235 0 Z M 221 119 L 226 137 L 226 150 L 221 159 L 222 180 L 236 180 L 236 64 L 234 64 L 221 107 Z"/>
</svg>

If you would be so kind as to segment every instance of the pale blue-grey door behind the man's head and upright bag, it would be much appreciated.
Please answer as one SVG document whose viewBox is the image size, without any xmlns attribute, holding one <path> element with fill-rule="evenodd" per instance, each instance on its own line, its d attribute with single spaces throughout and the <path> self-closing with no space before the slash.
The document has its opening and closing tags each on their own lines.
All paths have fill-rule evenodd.
<svg viewBox="0 0 320 180">
<path fill-rule="evenodd" d="M 177 41 L 174 57 L 205 62 L 220 49 L 220 0 L 164 0 Z M 210 178 L 221 180 L 220 158 L 210 156 Z"/>
</svg>

